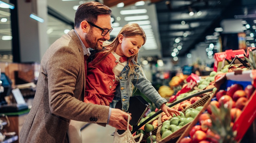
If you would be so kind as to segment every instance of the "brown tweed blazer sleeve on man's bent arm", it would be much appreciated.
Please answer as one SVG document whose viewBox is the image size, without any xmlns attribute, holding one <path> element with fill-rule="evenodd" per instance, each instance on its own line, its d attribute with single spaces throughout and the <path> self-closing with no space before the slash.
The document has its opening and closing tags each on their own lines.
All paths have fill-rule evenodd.
<svg viewBox="0 0 256 143">
<path fill-rule="evenodd" d="M 84 60 L 80 53 L 70 47 L 60 48 L 49 58 L 47 77 L 50 110 L 53 114 L 67 119 L 100 123 L 105 126 L 108 119 L 108 106 L 84 103 L 73 97 L 77 87 L 77 77 L 84 72 L 82 64 Z M 79 88 L 83 86 L 82 82 Z"/>
</svg>

